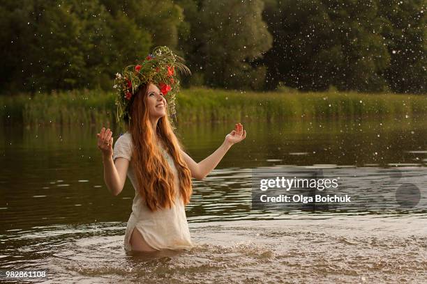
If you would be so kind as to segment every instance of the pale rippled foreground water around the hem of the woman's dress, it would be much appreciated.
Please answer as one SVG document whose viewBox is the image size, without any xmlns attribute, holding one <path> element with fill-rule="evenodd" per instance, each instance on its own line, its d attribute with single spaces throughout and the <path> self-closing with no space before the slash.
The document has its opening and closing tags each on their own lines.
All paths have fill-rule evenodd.
<svg viewBox="0 0 427 284">
<path fill-rule="evenodd" d="M 49 269 L 66 282 L 422 283 L 426 276 L 422 217 L 288 218 L 189 223 L 191 250 L 151 254 L 123 250 L 126 223 L 37 227 L 10 232 L 0 263 Z"/>
</svg>

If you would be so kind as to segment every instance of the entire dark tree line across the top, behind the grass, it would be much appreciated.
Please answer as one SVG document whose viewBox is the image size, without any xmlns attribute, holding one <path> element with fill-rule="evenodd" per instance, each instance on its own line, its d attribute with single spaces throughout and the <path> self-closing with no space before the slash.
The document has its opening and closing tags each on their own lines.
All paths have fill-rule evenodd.
<svg viewBox="0 0 427 284">
<path fill-rule="evenodd" d="M 0 93 L 112 90 L 153 47 L 185 86 L 426 93 L 425 0 L 3 0 Z"/>
</svg>

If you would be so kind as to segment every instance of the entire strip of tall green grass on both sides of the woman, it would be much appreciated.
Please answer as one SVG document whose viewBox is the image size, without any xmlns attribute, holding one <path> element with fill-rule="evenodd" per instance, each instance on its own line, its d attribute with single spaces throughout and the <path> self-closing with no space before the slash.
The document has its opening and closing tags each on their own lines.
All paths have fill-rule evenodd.
<svg viewBox="0 0 427 284">
<path fill-rule="evenodd" d="M 73 90 L 52 94 L 0 97 L 0 119 L 24 125 L 115 124 L 114 93 Z M 427 96 L 365 93 L 239 92 L 207 88 L 182 90 L 177 97 L 178 123 L 211 120 L 285 118 L 338 119 L 366 116 L 419 116 L 427 113 Z"/>
</svg>

